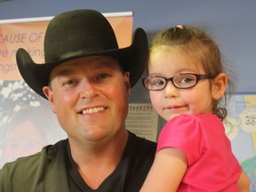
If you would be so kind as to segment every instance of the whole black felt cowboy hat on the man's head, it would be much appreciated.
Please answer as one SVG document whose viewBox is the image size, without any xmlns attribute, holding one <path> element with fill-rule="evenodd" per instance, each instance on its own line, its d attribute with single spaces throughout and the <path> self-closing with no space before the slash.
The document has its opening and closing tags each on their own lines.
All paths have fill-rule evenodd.
<svg viewBox="0 0 256 192">
<path fill-rule="evenodd" d="M 28 52 L 20 48 L 16 60 L 25 82 L 47 99 L 43 87 L 49 84 L 56 66 L 77 58 L 104 55 L 118 60 L 124 71 L 130 72 L 131 86 L 137 83 L 148 59 L 148 39 L 142 28 L 134 32 L 132 44 L 119 49 L 108 20 L 94 10 L 63 12 L 54 17 L 44 37 L 45 63 L 37 64 Z"/>
</svg>

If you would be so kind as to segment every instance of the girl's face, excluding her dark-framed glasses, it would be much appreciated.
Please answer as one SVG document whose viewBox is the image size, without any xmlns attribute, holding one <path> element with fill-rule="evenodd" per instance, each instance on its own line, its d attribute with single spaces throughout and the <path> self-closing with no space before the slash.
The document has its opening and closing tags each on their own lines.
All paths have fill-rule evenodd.
<svg viewBox="0 0 256 192">
<path fill-rule="evenodd" d="M 149 76 L 170 78 L 180 73 L 205 74 L 205 71 L 200 60 L 188 57 L 188 54 L 179 49 L 171 47 L 151 52 L 148 61 Z M 222 96 L 215 92 L 218 85 L 214 81 L 215 79 L 202 79 L 196 86 L 188 89 L 178 89 L 168 81 L 164 90 L 149 91 L 150 100 L 156 112 L 166 121 L 180 114 L 209 114 L 212 113 L 213 100 L 219 100 L 220 95 Z"/>
</svg>

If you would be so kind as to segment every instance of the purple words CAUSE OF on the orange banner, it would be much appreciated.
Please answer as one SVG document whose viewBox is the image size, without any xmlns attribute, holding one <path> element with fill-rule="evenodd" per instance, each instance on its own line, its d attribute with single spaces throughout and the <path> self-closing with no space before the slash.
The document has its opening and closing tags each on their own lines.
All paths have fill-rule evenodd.
<svg viewBox="0 0 256 192">
<path fill-rule="evenodd" d="M 40 42 L 44 38 L 44 33 L 31 33 L 29 36 L 27 33 L 19 34 L 0 34 L 0 44 L 20 44 L 27 43 L 27 40 L 31 43 Z"/>
</svg>

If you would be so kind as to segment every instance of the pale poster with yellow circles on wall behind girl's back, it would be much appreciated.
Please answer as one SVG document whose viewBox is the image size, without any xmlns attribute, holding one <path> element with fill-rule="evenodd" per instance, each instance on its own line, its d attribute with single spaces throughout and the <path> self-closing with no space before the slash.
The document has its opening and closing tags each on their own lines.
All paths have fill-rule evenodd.
<svg viewBox="0 0 256 192">
<path fill-rule="evenodd" d="M 232 150 L 256 191 L 256 94 L 235 94 L 228 103 L 225 122 Z"/>
</svg>

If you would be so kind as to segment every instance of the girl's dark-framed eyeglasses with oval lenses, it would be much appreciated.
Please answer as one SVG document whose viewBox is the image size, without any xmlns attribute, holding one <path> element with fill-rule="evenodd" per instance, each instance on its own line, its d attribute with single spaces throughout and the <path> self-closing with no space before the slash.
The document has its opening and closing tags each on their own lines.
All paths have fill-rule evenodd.
<svg viewBox="0 0 256 192">
<path fill-rule="evenodd" d="M 193 74 L 193 73 L 182 73 L 177 76 L 166 78 L 164 76 L 146 76 L 142 78 L 142 84 L 149 91 L 161 91 L 164 90 L 168 81 L 178 89 L 188 89 L 196 86 L 201 79 L 212 79 L 213 76 Z"/>
</svg>

